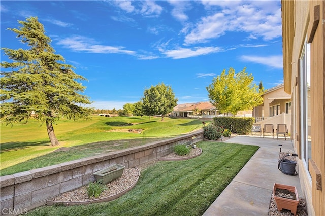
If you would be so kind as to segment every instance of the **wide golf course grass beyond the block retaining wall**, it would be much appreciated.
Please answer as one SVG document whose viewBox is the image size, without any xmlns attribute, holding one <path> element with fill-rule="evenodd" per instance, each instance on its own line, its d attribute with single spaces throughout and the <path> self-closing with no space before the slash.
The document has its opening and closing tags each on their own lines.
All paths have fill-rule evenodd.
<svg viewBox="0 0 325 216">
<path fill-rule="evenodd" d="M 107 151 L 126 149 L 146 143 L 179 136 L 201 129 L 197 119 L 165 117 L 102 117 L 90 120 L 70 121 L 60 119 L 54 131 L 60 141 L 52 147 L 46 125 L 39 121 L 1 125 L 0 175 L 45 167 L 70 160 L 101 154 Z M 142 133 L 125 132 L 125 129 L 142 129 Z M 117 130 L 117 131 L 116 131 Z M 54 152 L 68 147 L 67 152 Z"/>
</svg>

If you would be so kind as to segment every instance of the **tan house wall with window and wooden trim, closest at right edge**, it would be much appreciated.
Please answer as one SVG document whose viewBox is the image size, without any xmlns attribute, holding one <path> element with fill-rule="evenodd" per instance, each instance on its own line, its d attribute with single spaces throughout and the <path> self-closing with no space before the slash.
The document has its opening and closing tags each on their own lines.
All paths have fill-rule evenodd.
<svg viewBox="0 0 325 216">
<path fill-rule="evenodd" d="M 284 91 L 308 215 L 325 215 L 325 1 L 281 0 Z"/>
</svg>

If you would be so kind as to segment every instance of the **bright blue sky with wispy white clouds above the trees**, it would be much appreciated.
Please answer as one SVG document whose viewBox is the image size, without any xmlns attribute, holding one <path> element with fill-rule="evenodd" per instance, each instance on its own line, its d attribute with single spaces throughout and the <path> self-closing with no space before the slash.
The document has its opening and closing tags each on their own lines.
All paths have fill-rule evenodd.
<svg viewBox="0 0 325 216">
<path fill-rule="evenodd" d="M 170 85 L 178 104 L 208 101 L 223 69 L 247 67 L 265 89 L 283 83 L 280 1 L 1 1 L 1 47 L 26 48 L 7 28 L 37 16 L 56 54 L 88 81 L 97 109 L 121 109 Z M 1 53 L 1 61 L 8 59 Z"/>
</svg>

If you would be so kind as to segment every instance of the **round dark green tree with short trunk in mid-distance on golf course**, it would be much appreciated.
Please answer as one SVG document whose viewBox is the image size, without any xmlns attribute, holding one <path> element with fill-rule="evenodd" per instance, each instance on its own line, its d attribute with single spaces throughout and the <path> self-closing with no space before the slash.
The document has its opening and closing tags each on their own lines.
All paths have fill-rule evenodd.
<svg viewBox="0 0 325 216">
<path fill-rule="evenodd" d="M 142 101 L 145 114 L 149 116 L 161 115 L 161 121 L 164 121 L 166 114 L 173 111 L 178 101 L 172 88 L 164 83 L 145 89 L 143 95 Z"/>
</svg>

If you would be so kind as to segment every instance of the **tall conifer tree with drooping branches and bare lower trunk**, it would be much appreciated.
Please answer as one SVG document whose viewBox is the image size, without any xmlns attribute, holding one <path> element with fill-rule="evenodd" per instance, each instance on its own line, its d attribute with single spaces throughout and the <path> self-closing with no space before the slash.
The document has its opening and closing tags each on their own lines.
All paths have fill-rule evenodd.
<svg viewBox="0 0 325 216">
<path fill-rule="evenodd" d="M 2 48 L 10 62 L 1 62 L 0 118 L 7 124 L 28 120 L 31 114 L 46 123 L 53 146 L 59 145 L 53 123 L 60 117 L 85 118 L 91 109 L 87 96 L 81 95 L 85 87 L 77 80 L 86 80 L 55 54 L 51 39 L 37 17 L 18 21 L 19 29 L 9 28 L 29 49 Z"/>
</svg>

